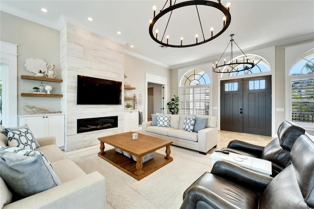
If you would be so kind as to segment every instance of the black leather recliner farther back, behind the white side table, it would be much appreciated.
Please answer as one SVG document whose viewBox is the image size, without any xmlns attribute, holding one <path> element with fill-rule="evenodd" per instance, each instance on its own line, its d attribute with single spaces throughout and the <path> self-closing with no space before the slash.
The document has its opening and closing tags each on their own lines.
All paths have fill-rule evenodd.
<svg viewBox="0 0 314 209">
<path fill-rule="evenodd" d="M 221 150 L 267 159 L 272 162 L 272 177 L 275 177 L 291 163 L 290 150 L 295 140 L 304 134 L 305 130 L 293 122 L 284 121 L 280 124 L 277 133 L 278 138 L 269 142 L 265 147 L 240 140 L 232 140 L 227 148 Z"/>
</svg>

